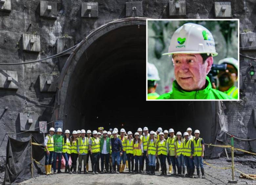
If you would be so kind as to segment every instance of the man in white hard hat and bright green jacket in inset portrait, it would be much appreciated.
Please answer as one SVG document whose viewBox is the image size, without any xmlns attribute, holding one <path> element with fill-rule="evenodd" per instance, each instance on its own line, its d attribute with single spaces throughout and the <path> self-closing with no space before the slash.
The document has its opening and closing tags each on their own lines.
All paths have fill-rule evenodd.
<svg viewBox="0 0 256 185">
<path fill-rule="evenodd" d="M 158 99 L 233 99 L 212 88 L 207 74 L 213 57 L 218 55 L 211 32 L 202 25 L 186 23 L 178 28 L 170 42 L 175 79 L 172 91 Z"/>
</svg>

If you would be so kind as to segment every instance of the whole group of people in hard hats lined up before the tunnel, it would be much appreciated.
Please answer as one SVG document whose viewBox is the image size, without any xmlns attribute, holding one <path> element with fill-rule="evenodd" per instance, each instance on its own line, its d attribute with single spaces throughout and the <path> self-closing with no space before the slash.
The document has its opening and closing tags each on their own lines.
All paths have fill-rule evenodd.
<svg viewBox="0 0 256 185">
<path fill-rule="evenodd" d="M 142 134 L 143 132 L 143 134 Z M 85 136 L 87 135 L 87 137 Z M 91 137 L 92 135 L 92 137 Z M 200 131 L 192 129 L 181 134 L 171 128 L 169 131 L 159 127 L 157 131 L 150 131 L 147 127 L 138 128 L 133 135 L 131 131 L 126 133 L 125 129 L 110 129 L 108 132 L 103 127 L 98 131 L 87 132 L 82 129 L 73 131 L 65 130 L 62 136 L 62 129 L 58 128 L 54 134 L 54 128 L 50 128 L 49 134 L 44 139 L 45 147 L 45 171 L 46 175 L 51 174 L 53 162 L 53 174 L 56 174 L 56 160 L 58 157 L 57 173 L 61 173 L 61 158 L 65 158 L 65 173 L 77 173 L 76 161 L 78 158 L 78 173 L 81 173 L 83 162 L 83 173 L 88 173 L 88 161 L 91 158 L 92 174 L 98 173 L 123 173 L 125 164 L 129 173 L 142 173 L 144 169 L 149 175 L 155 175 L 161 166 L 161 174 L 167 175 L 166 158 L 171 175 L 201 177 L 204 178 L 203 156 L 204 141 Z M 69 166 L 71 157 L 72 165 Z M 101 160 L 101 171 L 99 169 Z M 105 168 L 104 168 L 105 165 Z M 187 173 L 185 174 L 185 166 Z M 197 175 L 194 176 L 195 166 Z M 177 170 L 176 170 L 177 167 Z"/>
</svg>

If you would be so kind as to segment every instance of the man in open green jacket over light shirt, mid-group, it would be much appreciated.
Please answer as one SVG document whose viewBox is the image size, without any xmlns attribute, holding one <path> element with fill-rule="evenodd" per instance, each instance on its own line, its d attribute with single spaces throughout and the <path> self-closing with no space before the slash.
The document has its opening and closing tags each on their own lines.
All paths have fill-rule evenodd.
<svg viewBox="0 0 256 185">
<path fill-rule="evenodd" d="M 107 137 L 107 131 L 103 131 L 103 137 L 100 138 L 100 161 L 101 174 L 104 173 L 104 160 L 106 160 L 106 173 L 109 173 L 109 152 L 110 152 L 110 138 Z"/>
</svg>

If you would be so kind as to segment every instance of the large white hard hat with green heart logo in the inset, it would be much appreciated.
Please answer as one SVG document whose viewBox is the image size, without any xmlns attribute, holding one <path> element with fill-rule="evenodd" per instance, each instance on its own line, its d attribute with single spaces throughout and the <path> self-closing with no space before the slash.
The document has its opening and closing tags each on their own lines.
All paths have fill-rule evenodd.
<svg viewBox="0 0 256 185">
<path fill-rule="evenodd" d="M 186 23 L 172 35 L 168 53 L 207 53 L 218 55 L 211 32 L 202 25 Z"/>
</svg>

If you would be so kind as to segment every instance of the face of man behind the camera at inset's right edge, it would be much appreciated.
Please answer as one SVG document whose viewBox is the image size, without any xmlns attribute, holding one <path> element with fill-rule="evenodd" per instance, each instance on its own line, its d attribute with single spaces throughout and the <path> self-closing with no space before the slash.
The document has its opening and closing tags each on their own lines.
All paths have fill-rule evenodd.
<svg viewBox="0 0 256 185">
<path fill-rule="evenodd" d="M 218 79 L 220 86 L 232 86 L 237 80 L 237 70 L 234 65 L 227 64 L 225 71 L 219 71 Z"/>
</svg>

